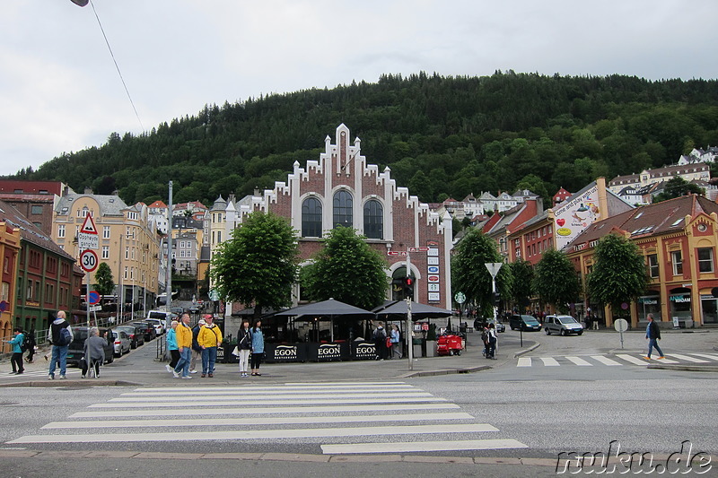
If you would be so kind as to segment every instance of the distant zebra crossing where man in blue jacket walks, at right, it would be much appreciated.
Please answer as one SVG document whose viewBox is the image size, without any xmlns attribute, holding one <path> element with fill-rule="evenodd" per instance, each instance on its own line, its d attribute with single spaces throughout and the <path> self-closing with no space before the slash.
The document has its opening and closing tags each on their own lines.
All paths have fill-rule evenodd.
<svg viewBox="0 0 718 478">
<path fill-rule="evenodd" d="M 520 357 L 516 362 L 516 367 L 620 367 L 623 365 L 641 365 L 647 366 L 651 363 L 667 363 L 672 365 L 695 365 L 695 364 L 718 364 L 718 354 L 715 353 L 666 353 L 665 358 L 658 359 L 658 355 L 654 354 L 651 361 L 644 359 L 645 355 L 636 353 L 616 353 L 615 355 L 563 355 L 558 357 Z"/>
</svg>

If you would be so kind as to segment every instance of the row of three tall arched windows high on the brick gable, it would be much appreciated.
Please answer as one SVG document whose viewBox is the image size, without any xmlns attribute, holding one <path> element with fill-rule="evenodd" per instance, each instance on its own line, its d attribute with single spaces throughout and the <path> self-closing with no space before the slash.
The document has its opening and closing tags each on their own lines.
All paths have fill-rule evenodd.
<svg viewBox="0 0 718 478">
<path fill-rule="evenodd" d="M 316 197 L 302 202 L 302 238 L 320 238 L 322 205 Z M 384 208 L 376 199 L 363 207 L 363 235 L 368 239 L 384 239 Z M 333 227 L 354 227 L 354 198 L 347 191 L 337 191 L 332 201 Z"/>
</svg>

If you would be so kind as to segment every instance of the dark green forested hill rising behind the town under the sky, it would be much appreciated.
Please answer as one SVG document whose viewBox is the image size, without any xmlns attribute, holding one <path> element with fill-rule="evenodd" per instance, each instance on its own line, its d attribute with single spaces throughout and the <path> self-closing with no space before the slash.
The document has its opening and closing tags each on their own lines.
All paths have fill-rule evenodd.
<svg viewBox="0 0 718 478">
<path fill-rule="evenodd" d="M 517 187 L 551 196 L 594 178 L 675 163 L 718 144 L 718 82 L 496 72 L 382 76 L 269 95 L 172 119 L 144 135 L 112 133 L 101 147 L 64 153 L 16 178 L 60 180 L 134 204 L 212 204 L 285 180 L 345 123 L 367 162 L 390 166 L 422 201 Z M 353 139 L 352 139 L 353 140 Z"/>
</svg>

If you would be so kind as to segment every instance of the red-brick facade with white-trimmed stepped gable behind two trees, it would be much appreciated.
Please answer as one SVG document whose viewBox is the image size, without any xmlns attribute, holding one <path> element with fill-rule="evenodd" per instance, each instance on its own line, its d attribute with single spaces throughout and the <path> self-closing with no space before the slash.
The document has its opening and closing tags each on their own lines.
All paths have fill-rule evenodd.
<svg viewBox="0 0 718 478">
<path fill-rule="evenodd" d="M 328 230 L 337 225 L 353 227 L 387 259 L 392 280 L 388 299 L 404 298 L 398 284 L 409 263 L 416 280 L 414 300 L 451 309 L 451 216 L 440 217 L 411 196 L 407 187 L 398 187 L 390 168 L 368 164 L 361 140 L 352 142 L 344 124 L 337 127 L 334 142 L 327 136 L 324 143 L 319 160 L 307 161 L 305 168 L 294 162 L 285 182 L 260 195 L 227 202 L 223 234 L 213 234 L 213 239 L 231 237 L 231 230 L 252 211 L 276 213 L 298 231 L 302 261 L 308 264 L 322 248 Z M 407 250 L 414 250 L 408 261 Z M 295 296 L 299 297 L 298 291 Z"/>
</svg>

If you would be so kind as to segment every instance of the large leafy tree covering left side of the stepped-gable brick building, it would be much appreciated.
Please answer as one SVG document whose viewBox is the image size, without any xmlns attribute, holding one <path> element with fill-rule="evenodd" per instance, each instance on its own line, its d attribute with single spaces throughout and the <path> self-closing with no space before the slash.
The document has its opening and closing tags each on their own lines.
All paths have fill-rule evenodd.
<svg viewBox="0 0 718 478">
<path fill-rule="evenodd" d="M 254 307 L 259 317 L 292 304 L 297 262 L 296 232 L 285 218 L 255 212 L 217 247 L 210 276 L 221 298 Z"/>
</svg>

